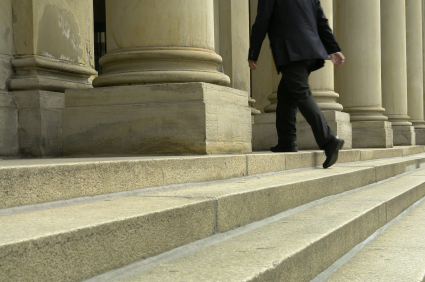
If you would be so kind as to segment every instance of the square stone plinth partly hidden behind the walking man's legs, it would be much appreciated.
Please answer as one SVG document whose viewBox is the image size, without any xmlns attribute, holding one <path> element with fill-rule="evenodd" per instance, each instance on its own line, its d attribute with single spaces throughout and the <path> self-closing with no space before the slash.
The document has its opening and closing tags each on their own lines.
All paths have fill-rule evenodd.
<svg viewBox="0 0 425 282">
<path fill-rule="evenodd" d="M 323 111 L 323 116 L 328 122 L 332 131 L 344 139 L 343 149 L 352 148 L 352 127 L 350 123 L 350 114 L 340 111 Z M 319 147 L 314 139 L 313 131 L 310 125 L 301 115 L 297 114 L 297 145 L 299 149 L 318 150 Z"/>
</svg>

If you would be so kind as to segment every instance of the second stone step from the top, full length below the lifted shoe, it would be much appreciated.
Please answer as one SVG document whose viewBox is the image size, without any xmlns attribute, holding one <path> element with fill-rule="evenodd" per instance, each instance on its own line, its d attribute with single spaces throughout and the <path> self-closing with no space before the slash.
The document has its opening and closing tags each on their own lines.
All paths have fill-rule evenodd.
<svg viewBox="0 0 425 282">
<path fill-rule="evenodd" d="M 0 280 L 89 278 L 424 164 L 422 153 L 86 203 L 2 209 Z"/>
</svg>

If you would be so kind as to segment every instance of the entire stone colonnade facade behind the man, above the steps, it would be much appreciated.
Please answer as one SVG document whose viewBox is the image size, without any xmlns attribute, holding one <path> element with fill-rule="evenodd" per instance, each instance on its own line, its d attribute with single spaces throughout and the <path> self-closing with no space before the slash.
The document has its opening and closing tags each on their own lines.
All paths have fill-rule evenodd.
<svg viewBox="0 0 425 282">
<path fill-rule="evenodd" d="M 267 39 L 247 65 L 257 1 L 1 0 L 0 155 L 268 150 L 279 76 Z M 425 144 L 425 0 L 321 3 L 346 63 L 310 83 L 345 148 Z M 316 148 L 302 116 L 298 143 Z"/>
</svg>

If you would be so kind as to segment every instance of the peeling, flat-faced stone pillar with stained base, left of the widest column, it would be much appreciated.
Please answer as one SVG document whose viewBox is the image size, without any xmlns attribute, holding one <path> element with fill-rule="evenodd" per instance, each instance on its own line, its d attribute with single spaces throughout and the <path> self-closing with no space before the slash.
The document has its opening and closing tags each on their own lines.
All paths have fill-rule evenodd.
<svg viewBox="0 0 425 282">
<path fill-rule="evenodd" d="M 19 107 L 20 153 L 61 156 L 63 92 L 92 88 L 89 78 L 97 74 L 93 2 L 12 3 L 14 75 L 7 86 Z"/>
</svg>

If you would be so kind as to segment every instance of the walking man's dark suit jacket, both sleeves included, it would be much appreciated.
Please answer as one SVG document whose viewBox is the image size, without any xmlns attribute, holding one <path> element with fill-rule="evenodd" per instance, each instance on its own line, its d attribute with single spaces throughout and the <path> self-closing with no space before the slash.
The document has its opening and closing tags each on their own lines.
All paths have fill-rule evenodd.
<svg viewBox="0 0 425 282">
<path fill-rule="evenodd" d="M 317 70 L 328 55 L 341 51 L 320 0 L 258 0 L 249 60 L 258 60 L 267 33 L 276 67 L 317 59 Z"/>
</svg>

